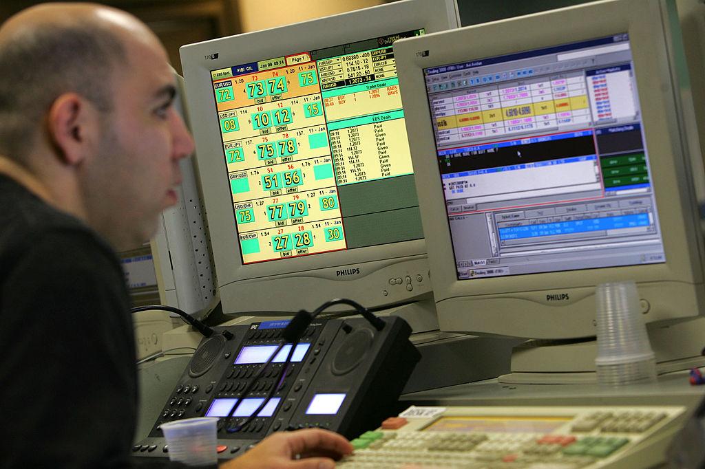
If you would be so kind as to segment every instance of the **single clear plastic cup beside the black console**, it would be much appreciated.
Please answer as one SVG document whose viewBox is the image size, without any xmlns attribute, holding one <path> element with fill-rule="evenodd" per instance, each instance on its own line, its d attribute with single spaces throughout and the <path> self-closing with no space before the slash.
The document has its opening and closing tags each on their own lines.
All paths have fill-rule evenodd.
<svg viewBox="0 0 705 469">
<path fill-rule="evenodd" d="M 171 461 L 188 465 L 216 466 L 218 443 L 216 417 L 197 417 L 162 423 Z"/>
</svg>

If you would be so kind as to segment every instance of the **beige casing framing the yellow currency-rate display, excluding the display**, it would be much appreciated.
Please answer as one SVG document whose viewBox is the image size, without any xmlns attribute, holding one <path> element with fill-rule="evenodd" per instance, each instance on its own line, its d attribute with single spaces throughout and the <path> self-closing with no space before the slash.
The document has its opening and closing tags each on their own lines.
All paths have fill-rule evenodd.
<svg viewBox="0 0 705 469">
<path fill-rule="evenodd" d="M 355 27 L 350 27 L 351 24 Z M 397 32 L 424 28 L 430 33 L 459 25 L 455 0 L 404 0 L 269 30 L 188 44 L 180 49 L 216 277 L 226 311 L 243 309 L 238 301 L 243 298 L 243 292 L 249 295 L 248 306 L 255 309 L 279 307 L 290 311 L 290 308 L 301 308 L 303 304 L 290 304 L 290 301 L 281 299 L 283 296 L 275 299 L 274 295 L 265 295 L 262 282 L 305 277 L 307 280 L 319 278 L 344 283 L 339 280 L 348 279 L 336 276 L 338 270 L 367 265 L 365 272 L 357 275 L 361 277 L 379 268 L 403 263 L 407 259 L 418 261 L 425 257 L 426 248 L 424 239 L 415 239 L 243 265 L 238 233 L 233 226 L 235 218 L 232 194 L 228 185 L 217 111 L 214 99 L 210 99 L 213 94 L 211 71 Z M 217 54 L 217 58 L 213 58 L 214 54 Z M 425 270 L 424 274 L 427 273 L 427 267 L 422 270 Z M 283 284 L 295 287 L 292 282 Z M 262 291 L 259 294 L 252 292 L 253 288 L 260 287 Z M 308 292 L 308 295 L 306 306 L 317 305 L 329 299 L 325 292 Z M 375 302 L 384 301 L 378 299 Z"/>
</svg>

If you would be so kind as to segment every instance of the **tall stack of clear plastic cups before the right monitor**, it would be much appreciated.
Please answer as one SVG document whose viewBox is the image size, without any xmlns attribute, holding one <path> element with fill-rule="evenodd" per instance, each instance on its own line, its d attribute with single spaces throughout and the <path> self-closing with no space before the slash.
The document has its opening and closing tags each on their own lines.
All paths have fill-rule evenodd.
<svg viewBox="0 0 705 469">
<path fill-rule="evenodd" d="M 656 380 L 635 282 L 599 284 L 595 292 L 597 382 L 606 386 Z"/>
</svg>

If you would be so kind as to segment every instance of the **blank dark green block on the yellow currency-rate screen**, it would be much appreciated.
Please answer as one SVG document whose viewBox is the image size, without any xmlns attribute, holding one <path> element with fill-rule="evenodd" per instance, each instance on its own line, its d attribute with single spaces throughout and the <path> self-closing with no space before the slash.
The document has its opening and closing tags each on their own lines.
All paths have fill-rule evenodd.
<svg viewBox="0 0 705 469">
<path fill-rule="evenodd" d="M 422 239 L 412 175 L 338 187 L 348 249 Z"/>
</svg>

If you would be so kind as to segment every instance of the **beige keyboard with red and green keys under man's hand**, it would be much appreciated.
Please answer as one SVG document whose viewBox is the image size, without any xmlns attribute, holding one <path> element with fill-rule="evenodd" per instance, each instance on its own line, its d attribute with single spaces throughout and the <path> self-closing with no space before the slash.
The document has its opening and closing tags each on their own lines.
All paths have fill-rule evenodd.
<svg viewBox="0 0 705 469">
<path fill-rule="evenodd" d="M 353 439 L 339 468 L 648 468 L 685 420 L 681 406 L 411 407 Z"/>
</svg>

